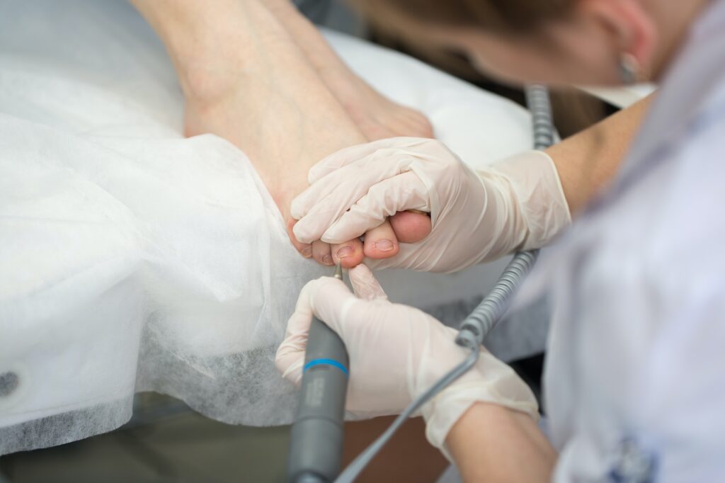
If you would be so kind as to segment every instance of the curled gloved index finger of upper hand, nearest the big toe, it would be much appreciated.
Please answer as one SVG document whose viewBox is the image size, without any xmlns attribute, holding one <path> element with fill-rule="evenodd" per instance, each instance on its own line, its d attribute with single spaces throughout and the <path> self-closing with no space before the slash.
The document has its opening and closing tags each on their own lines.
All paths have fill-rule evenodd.
<svg viewBox="0 0 725 483">
<path fill-rule="evenodd" d="M 320 239 L 328 243 L 338 243 L 340 240 L 360 236 L 370 228 L 378 226 L 386 217 L 411 209 L 427 212 L 431 207 L 427 186 L 413 171 L 408 171 L 371 187 L 368 194 L 331 223 Z M 319 223 L 315 220 L 317 216 L 317 212 L 310 212 L 305 218 L 310 218 L 310 223 Z M 299 223 L 295 226 L 295 234 Z"/>
</svg>

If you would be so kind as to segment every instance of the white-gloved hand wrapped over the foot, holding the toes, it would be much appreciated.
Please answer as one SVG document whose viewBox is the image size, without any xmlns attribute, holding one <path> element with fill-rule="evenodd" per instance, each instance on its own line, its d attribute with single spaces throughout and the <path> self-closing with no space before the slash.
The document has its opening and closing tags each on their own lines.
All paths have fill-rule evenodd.
<svg viewBox="0 0 725 483">
<path fill-rule="evenodd" d="M 303 243 L 341 243 L 405 210 L 430 212 L 431 234 L 371 268 L 450 272 L 547 244 L 571 222 L 551 158 L 531 151 L 478 172 L 434 139 L 381 139 L 342 149 L 310 170 L 294 199 Z"/>
</svg>

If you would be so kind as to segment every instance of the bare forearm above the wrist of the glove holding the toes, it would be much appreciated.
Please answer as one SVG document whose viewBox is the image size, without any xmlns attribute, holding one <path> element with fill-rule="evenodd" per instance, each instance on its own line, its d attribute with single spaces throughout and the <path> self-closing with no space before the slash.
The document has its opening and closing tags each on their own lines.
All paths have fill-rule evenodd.
<svg viewBox="0 0 725 483">
<path fill-rule="evenodd" d="M 612 180 L 653 96 L 547 149 L 572 214 L 586 207 Z"/>
</svg>

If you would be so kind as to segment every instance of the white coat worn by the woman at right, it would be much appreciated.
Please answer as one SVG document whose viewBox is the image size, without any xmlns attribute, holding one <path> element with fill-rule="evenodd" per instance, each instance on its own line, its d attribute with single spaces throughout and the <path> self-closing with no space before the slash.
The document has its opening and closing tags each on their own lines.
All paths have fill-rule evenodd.
<svg viewBox="0 0 725 483">
<path fill-rule="evenodd" d="M 725 481 L 725 1 L 613 188 L 542 260 L 556 482 Z"/>
</svg>

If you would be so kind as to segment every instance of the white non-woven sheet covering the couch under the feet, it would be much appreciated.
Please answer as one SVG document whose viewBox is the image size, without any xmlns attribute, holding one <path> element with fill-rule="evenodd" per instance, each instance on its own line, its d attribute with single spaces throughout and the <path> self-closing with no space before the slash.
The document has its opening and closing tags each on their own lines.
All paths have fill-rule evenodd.
<svg viewBox="0 0 725 483">
<path fill-rule="evenodd" d="M 463 159 L 529 148 L 521 107 L 328 35 Z M 115 429 L 140 391 L 291 421 L 273 357 L 299 289 L 328 271 L 291 247 L 244 152 L 182 124 L 173 66 L 126 1 L 0 2 L 0 454 Z M 383 278 L 394 300 L 435 304 L 497 275 L 476 270 Z"/>
</svg>

